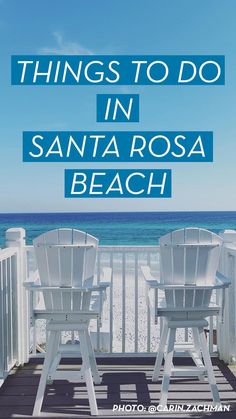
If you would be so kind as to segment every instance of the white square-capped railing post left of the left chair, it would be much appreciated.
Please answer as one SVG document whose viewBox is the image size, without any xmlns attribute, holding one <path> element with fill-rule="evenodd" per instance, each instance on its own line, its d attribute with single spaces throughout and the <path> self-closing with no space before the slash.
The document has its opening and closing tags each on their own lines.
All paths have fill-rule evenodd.
<svg viewBox="0 0 236 419">
<path fill-rule="evenodd" d="M 26 279 L 25 230 L 23 228 L 9 228 L 5 235 L 6 247 L 17 249 L 14 270 L 17 290 L 17 363 L 24 364 L 29 360 L 29 316 L 28 295 L 23 283 Z"/>
</svg>

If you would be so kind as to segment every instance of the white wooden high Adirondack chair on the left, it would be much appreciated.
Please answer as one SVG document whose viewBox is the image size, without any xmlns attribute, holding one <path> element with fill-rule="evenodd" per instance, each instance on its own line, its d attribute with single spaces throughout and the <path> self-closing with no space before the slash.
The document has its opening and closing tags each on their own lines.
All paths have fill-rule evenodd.
<svg viewBox="0 0 236 419">
<path fill-rule="evenodd" d="M 41 291 L 45 310 L 41 317 L 47 319 L 48 340 L 43 370 L 37 391 L 33 415 L 41 411 L 47 381 L 62 378 L 56 372 L 60 363 L 60 340 L 62 331 L 77 331 L 79 345 L 71 345 L 82 357 L 82 370 L 86 381 L 89 405 L 92 415 L 97 415 L 97 402 L 93 381 L 101 382 L 94 351 L 90 339 L 89 323 L 92 318 L 99 318 L 100 310 L 91 308 L 92 299 L 100 298 L 109 282 L 94 285 L 95 262 L 98 240 L 75 229 L 52 230 L 40 235 L 33 241 L 39 284 L 28 283 L 30 291 Z M 110 277 L 111 270 L 106 270 Z M 109 278 L 108 278 L 109 280 Z M 78 348 L 78 349 L 77 349 Z M 70 372 L 75 379 L 79 372 Z"/>
</svg>

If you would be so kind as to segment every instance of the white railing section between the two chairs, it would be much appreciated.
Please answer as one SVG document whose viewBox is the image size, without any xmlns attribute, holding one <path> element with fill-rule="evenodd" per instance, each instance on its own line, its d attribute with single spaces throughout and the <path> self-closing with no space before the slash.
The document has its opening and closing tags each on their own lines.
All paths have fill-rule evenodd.
<svg viewBox="0 0 236 419">
<path fill-rule="evenodd" d="M 159 247 L 101 246 L 98 253 L 98 278 L 104 265 L 112 268 L 107 305 L 109 353 L 140 354 L 154 351 L 157 328 L 155 325 L 151 327 L 140 267 L 151 265 L 158 271 Z"/>
</svg>

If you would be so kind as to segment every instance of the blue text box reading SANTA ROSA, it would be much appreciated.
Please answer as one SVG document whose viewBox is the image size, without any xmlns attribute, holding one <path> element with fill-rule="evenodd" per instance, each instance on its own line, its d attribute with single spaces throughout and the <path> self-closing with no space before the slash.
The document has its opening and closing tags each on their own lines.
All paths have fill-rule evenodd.
<svg viewBox="0 0 236 419">
<path fill-rule="evenodd" d="M 213 133 L 211 131 L 25 131 L 23 161 L 212 162 Z"/>
</svg>

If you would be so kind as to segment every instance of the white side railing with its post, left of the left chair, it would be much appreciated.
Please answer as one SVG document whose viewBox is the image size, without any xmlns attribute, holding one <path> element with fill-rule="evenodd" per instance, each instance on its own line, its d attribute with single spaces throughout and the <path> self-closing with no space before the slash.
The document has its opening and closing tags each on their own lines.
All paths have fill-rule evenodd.
<svg viewBox="0 0 236 419">
<path fill-rule="evenodd" d="M 23 229 L 8 230 L 7 248 L 0 250 L 0 386 L 14 365 L 28 360 L 28 331 L 25 327 L 28 296 L 22 285 L 25 277 L 23 232 Z"/>
</svg>

